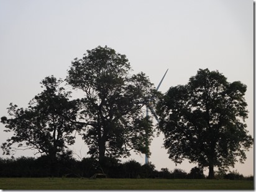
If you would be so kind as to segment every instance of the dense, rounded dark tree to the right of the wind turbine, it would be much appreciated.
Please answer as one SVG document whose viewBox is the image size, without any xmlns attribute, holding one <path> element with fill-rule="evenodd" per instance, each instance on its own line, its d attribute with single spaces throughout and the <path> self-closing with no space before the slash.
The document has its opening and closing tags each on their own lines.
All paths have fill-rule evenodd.
<svg viewBox="0 0 256 192">
<path fill-rule="evenodd" d="M 214 178 L 214 167 L 234 167 L 237 157 L 242 163 L 253 144 L 245 129 L 245 91 L 246 85 L 229 83 L 209 69 L 199 69 L 186 85 L 170 87 L 157 107 L 169 158 L 209 167 L 208 178 Z"/>
</svg>

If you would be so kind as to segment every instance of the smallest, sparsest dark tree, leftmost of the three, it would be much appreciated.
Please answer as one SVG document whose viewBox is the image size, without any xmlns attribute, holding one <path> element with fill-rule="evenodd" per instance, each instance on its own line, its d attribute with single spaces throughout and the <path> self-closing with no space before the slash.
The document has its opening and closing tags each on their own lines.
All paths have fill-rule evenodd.
<svg viewBox="0 0 256 192">
<path fill-rule="evenodd" d="M 22 150 L 36 149 L 48 156 L 53 169 L 57 155 L 64 152 L 66 144 L 75 142 L 71 134 L 79 126 L 70 120 L 75 120 L 78 107 L 75 100 L 69 101 L 70 92 L 65 92 L 61 83 L 53 76 L 45 77 L 41 82 L 45 90 L 29 102 L 28 108 L 10 104 L 10 118 L 2 116 L 1 123 L 7 128 L 4 131 L 14 135 L 2 144 L 4 154 L 13 154 L 14 144 Z"/>
</svg>

